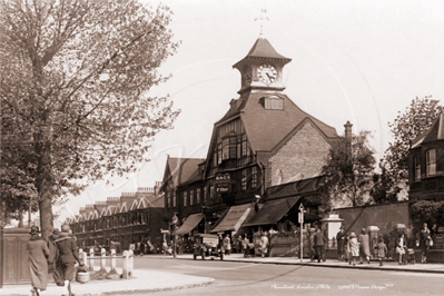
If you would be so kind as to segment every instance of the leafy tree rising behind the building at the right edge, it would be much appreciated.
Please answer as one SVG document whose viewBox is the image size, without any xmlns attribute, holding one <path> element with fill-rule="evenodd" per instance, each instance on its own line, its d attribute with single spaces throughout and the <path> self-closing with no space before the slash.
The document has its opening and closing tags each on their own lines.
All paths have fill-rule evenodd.
<svg viewBox="0 0 444 296">
<path fill-rule="evenodd" d="M 395 185 L 408 177 L 410 142 L 426 131 L 438 114 L 444 111 L 444 108 L 438 106 L 440 101 L 431 98 L 432 96 L 422 99 L 416 97 L 404 114 L 399 111 L 396 119 L 392 124 L 388 122 L 394 142 L 389 142 L 381 167 L 385 169 L 387 178 L 391 178 L 391 182 Z"/>
</svg>

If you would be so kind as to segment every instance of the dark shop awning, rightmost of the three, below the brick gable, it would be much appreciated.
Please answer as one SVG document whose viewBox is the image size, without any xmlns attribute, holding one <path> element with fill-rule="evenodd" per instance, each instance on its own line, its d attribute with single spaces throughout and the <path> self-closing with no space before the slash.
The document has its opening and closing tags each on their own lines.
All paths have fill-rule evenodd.
<svg viewBox="0 0 444 296">
<path fill-rule="evenodd" d="M 263 208 L 244 226 L 277 224 L 285 214 L 299 200 L 300 196 L 293 196 L 268 200 Z"/>
</svg>

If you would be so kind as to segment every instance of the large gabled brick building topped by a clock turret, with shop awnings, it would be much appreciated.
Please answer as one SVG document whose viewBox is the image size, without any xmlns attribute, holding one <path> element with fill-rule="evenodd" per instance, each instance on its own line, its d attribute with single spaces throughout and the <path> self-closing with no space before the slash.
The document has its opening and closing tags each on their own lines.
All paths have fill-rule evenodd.
<svg viewBox="0 0 444 296">
<path fill-rule="evenodd" d="M 179 217 L 178 234 L 238 231 L 267 201 L 269 187 L 298 188 L 310 180 L 307 193 L 319 193 L 319 174 L 338 136 L 283 92 L 283 68 L 289 61 L 267 39 L 257 39 L 233 66 L 241 76 L 239 97 L 214 124 L 206 159 L 168 158 L 161 190 L 165 207 Z M 297 190 L 292 195 L 297 207 L 303 199 Z M 317 213 L 316 203 L 310 207 Z"/>
</svg>

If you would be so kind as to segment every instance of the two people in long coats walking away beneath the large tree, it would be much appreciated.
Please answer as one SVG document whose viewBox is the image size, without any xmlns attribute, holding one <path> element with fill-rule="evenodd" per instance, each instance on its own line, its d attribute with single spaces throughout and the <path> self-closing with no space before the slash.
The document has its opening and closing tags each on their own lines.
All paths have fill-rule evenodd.
<svg viewBox="0 0 444 296">
<path fill-rule="evenodd" d="M 65 287 L 62 295 L 73 296 L 71 280 L 75 278 L 76 263 L 82 266 L 76 237 L 68 225 L 63 225 L 61 231 L 53 229 L 48 241 L 39 234 L 39 227 L 32 226 L 27 244 L 32 295 L 40 295 L 47 289 L 48 275 L 52 274 L 57 286 Z"/>
</svg>

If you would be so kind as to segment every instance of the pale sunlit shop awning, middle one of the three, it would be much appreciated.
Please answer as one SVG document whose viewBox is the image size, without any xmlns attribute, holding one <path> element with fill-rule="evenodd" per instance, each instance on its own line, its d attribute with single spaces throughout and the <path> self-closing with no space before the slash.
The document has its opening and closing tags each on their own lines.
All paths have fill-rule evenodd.
<svg viewBox="0 0 444 296">
<path fill-rule="evenodd" d="M 210 233 L 237 231 L 254 214 L 254 204 L 233 206 Z"/>
</svg>

